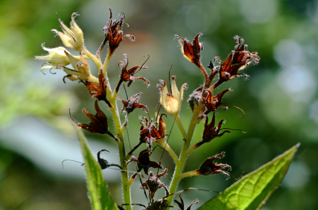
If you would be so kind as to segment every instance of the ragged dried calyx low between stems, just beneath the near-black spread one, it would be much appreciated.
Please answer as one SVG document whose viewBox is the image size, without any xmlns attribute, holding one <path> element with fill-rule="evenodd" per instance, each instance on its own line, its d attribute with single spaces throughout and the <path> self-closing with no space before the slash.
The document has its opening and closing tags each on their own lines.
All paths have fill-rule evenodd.
<svg viewBox="0 0 318 210">
<path fill-rule="evenodd" d="M 140 188 L 149 190 L 152 199 L 154 197 L 154 193 L 156 193 L 159 188 L 164 188 L 166 190 L 166 196 L 170 195 L 166 185 L 160 181 L 161 176 L 164 176 L 166 172 L 168 172 L 168 169 L 165 169 L 163 173 L 154 175 L 154 172 L 150 171 L 148 179 L 141 184 Z"/>
</svg>

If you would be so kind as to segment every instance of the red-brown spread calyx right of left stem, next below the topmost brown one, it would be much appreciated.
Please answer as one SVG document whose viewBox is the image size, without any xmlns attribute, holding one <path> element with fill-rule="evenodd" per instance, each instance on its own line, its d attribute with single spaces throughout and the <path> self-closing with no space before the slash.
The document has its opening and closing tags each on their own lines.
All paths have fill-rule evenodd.
<svg viewBox="0 0 318 210">
<path fill-rule="evenodd" d="M 121 67 L 121 75 L 120 75 L 120 80 L 119 83 L 116 87 L 116 90 L 118 92 L 119 87 L 121 85 L 122 82 L 128 82 L 128 87 L 131 85 L 131 83 L 133 83 L 134 80 L 140 79 L 143 80 L 145 83 L 147 83 L 147 85 L 150 85 L 150 82 L 148 80 L 146 80 L 145 78 L 138 76 L 138 77 L 134 77 L 133 75 L 135 73 L 137 73 L 137 69 L 147 69 L 147 66 L 133 66 L 133 68 L 128 69 L 127 70 L 127 66 L 128 66 L 128 55 L 125 55 L 125 59 L 124 62 L 120 61 L 119 62 L 119 66 Z M 125 64 L 126 62 L 126 64 Z"/>
</svg>

